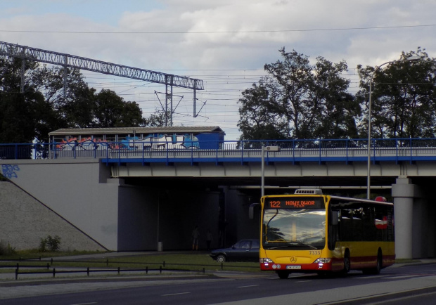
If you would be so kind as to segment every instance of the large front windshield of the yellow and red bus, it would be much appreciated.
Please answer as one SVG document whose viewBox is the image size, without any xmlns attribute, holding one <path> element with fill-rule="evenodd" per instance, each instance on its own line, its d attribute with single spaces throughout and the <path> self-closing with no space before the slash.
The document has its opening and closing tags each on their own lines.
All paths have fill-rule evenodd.
<svg viewBox="0 0 436 305">
<path fill-rule="evenodd" d="M 264 249 L 323 249 L 325 209 L 264 209 Z"/>
</svg>

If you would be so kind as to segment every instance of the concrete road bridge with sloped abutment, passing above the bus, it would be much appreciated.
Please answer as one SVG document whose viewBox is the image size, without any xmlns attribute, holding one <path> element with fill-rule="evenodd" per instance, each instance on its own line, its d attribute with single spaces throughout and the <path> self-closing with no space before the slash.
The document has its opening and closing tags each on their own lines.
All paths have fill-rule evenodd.
<svg viewBox="0 0 436 305">
<path fill-rule="evenodd" d="M 436 254 L 434 143 L 397 139 L 371 145 L 371 193 L 395 203 L 399 258 Z M 4 176 L 107 249 L 186 249 L 195 225 L 203 237 L 211 229 L 214 247 L 257 237 L 259 224 L 248 219 L 248 207 L 260 196 L 260 146 L 270 143 L 223 141 L 207 150 L 160 144 L 155 150 L 121 143 L 86 149 L 9 144 L 0 151 L 15 157 L 0 164 Z M 264 156 L 267 195 L 302 187 L 366 193 L 364 140 L 274 145 L 281 151 Z M 20 159 L 26 153 L 44 159 Z"/>
</svg>

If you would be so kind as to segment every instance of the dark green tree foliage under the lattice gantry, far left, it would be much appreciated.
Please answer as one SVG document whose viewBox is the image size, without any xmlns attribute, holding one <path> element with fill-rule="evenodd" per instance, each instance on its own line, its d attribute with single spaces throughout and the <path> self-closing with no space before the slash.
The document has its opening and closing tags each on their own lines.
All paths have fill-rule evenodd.
<svg viewBox="0 0 436 305">
<path fill-rule="evenodd" d="M 136 102 L 110 90 L 96 93 L 78 69 L 25 61 L 24 93 L 20 84 L 21 60 L 0 56 L 0 143 L 48 142 L 49 132 L 60 128 L 146 124 Z"/>
</svg>

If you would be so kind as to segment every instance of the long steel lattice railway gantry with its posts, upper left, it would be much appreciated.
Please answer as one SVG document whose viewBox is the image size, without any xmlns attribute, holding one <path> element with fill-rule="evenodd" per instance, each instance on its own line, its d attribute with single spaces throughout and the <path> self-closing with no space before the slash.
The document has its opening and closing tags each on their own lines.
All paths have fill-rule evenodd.
<svg viewBox="0 0 436 305">
<path fill-rule="evenodd" d="M 169 126 L 172 126 L 172 87 L 182 87 L 193 89 L 193 117 L 197 117 L 196 110 L 197 90 L 203 90 L 203 81 L 190 77 L 182 77 L 174 74 L 166 74 L 155 72 L 137 67 L 128 67 L 125 65 L 117 65 L 115 63 L 107 63 L 101 60 L 73 56 L 66 53 L 58 53 L 53 51 L 42 50 L 40 48 L 31 48 L 29 46 L 20 46 L 18 44 L 10 44 L 0 41 L 0 56 L 11 56 L 21 58 L 21 92 L 24 92 L 24 72 L 25 60 L 34 60 L 41 63 L 49 63 L 53 65 L 61 65 L 64 67 L 64 98 L 66 87 L 67 67 L 75 67 L 81 70 L 88 70 L 102 74 L 116 75 L 119 77 L 127 77 L 130 79 L 139 79 L 146 82 L 165 84 L 165 113 L 169 117 Z M 168 115 L 169 106 L 169 115 Z M 163 106 L 162 106 L 163 108 Z M 165 120 L 165 126 L 167 121 Z"/>
</svg>

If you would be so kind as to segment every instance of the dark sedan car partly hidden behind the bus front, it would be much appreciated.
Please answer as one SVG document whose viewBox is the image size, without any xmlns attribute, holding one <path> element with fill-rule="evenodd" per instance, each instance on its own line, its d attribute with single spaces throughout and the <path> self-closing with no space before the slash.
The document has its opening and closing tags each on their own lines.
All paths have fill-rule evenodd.
<svg viewBox="0 0 436 305">
<path fill-rule="evenodd" d="M 224 261 L 259 261 L 259 240 L 240 240 L 235 245 L 210 253 L 219 263 Z"/>
</svg>

